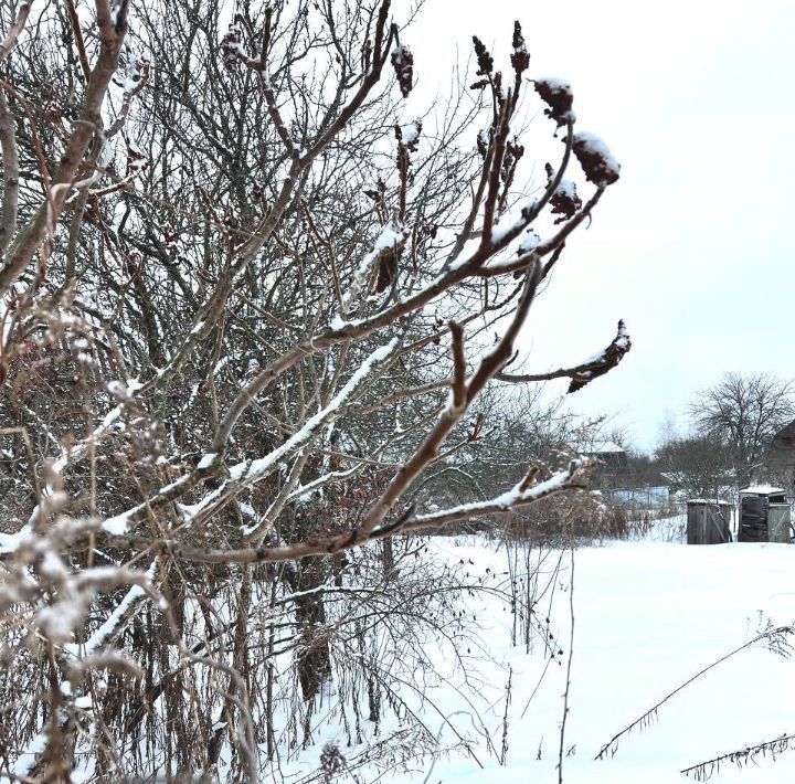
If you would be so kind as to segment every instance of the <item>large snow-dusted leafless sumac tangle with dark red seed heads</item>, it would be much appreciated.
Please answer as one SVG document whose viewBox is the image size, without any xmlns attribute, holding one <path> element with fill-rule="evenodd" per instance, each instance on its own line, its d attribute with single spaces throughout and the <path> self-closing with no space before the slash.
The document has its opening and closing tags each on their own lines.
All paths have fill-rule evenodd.
<svg viewBox="0 0 795 784">
<path fill-rule="evenodd" d="M 586 460 L 531 458 L 471 504 L 412 500 L 487 437 L 498 379 L 575 391 L 629 338 L 504 374 L 618 163 L 575 131 L 568 84 L 528 78 L 519 23 L 508 70 L 475 38 L 475 83 L 403 117 L 421 64 L 391 13 L 2 6 L 3 504 L 28 520 L 0 542 L 3 772 L 213 776 L 231 749 L 256 781 L 262 744 L 309 742 L 353 648 L 378 717 L 398 676 L 374 627 L 405 622 L 404 666 L 451 634 L 427 586 L 458 578 L 414 580 L 415 534 L 585 486 Z M 563 144 L 529 199 L 536 100 Z"/>
</svg>

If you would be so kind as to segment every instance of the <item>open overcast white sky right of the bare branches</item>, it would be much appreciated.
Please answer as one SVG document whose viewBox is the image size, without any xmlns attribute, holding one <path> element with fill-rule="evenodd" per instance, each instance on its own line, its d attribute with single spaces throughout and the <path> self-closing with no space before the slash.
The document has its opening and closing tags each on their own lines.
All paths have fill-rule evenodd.
<svg viewBox="0 0 795 784">
<path fill-rule="evenodd" d="M 528 369 L 591 356 L 624 318 L 633 350 L 571 402 L 642 448 L 725 370 L 795 375 L 795 0 L 427 0 L 405 35 L 420 86 L 473 33 L 509 71 L 513 19 L 529 75 L 566 78 L 579 127 L 622 163 L 538 303 Z"/>
</svg>

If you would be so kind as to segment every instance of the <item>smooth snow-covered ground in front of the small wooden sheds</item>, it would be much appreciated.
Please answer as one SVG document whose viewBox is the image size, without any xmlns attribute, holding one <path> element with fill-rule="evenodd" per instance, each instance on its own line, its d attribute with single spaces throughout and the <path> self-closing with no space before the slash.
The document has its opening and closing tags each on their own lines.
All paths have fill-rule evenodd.
<svg viewBox="0 0 795 784">
<path fill-rule="evenodd" d="M 782 626 L 795 619 L 795 549 L 781 544 L 687 547 L 680 539 L 669 541 L 678 523 L 658 523 L 642 541 L 585 547 L 574 553 L 565 782 L 698 781 L 680 771 L 795 732 L 795 661 L 763 642 L 699 677 L 667 701 L 648 724 L 624 735 L 613 755 L 594 760 L 615 733 L 699 670 L 753 639 L 768 624 Z M 486 582 L 506 579 L 507 554 L 496 544 L 451 538 L 436 539 L 435 548 L 441 558 L 463 560 L 473 575 L 483 575 Z M 541 623 L 544 616 L 550 618 L 552 645 L 563 655 L 550 661 L 540 640 L 530 654 L 523 646 L 512 647 L 512 616 L 502 601 L 483 593 L 466 604 L 462 600 L 462 608 L 477 615 L 481 629 L 483 649 L 469 649 L 465 656 L 468 684 L 463 682 L 455 657 L 439 647 L 435 660 L 446 682 L 426 689 L 426 699 L 416 698 L 417 714 L 436 728 L 441 744 L 451 752 L 433 766 L 430 760 L 424 766 L 418 764 L 414 773 L 360 767 L 356 781 L 558 781 L 570 650 L 571 563 L 568 553 L 551 553 L 545 562 L 553 574 L 561 555 L 560 573 L 537 612 Z M 381 733 L 385 737 L 398 729 L 384 725 Z M 282 767 L 286 781 L 301 781 L 301 771 L 306 775 L 317 766 L 322 742 L 340 740 L 331 723 L 317 730 L 321 742 L 297 763 Z M 348 759 L 358 753 L 341 742 L 340 750 Z M 760 756 L 742 769 L 724 763 L 710 781 L 795 781 L 795 750 L 775 762 Z"/>
</svg>

